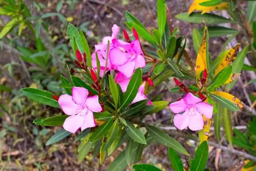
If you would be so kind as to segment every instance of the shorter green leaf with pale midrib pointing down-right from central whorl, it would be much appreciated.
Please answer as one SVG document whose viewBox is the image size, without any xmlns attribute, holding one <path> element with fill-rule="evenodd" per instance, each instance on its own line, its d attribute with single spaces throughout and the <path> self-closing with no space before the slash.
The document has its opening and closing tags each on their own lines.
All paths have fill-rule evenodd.
<svg viewBox="0 0 256 171">
<path fill-rule="evenodd" d="M 129 121 L 126 121 L 126 126 L 124 126 L 124 129 L 126 133 L 136 142 L 141 144 L 146 144 L 146 139 L 143 135 L 143 133 L 136 129 L 136 127 Z"/>
</svg>

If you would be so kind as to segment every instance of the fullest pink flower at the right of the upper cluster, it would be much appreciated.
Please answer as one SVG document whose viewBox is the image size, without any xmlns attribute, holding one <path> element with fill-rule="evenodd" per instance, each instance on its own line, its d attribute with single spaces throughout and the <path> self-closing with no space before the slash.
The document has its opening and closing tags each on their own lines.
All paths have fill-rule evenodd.
<svg viewBox="0 0 256 171">
<path fill-rule="evenodd" d="M 145 67 L 145 58 L 139 40 L 133 40 L 131 44 L 125 45 L 117 41 L 116 45 L 110 50 L 110 62 L 115 70 L 130 78 L 137 68 Z"/>
</svg>

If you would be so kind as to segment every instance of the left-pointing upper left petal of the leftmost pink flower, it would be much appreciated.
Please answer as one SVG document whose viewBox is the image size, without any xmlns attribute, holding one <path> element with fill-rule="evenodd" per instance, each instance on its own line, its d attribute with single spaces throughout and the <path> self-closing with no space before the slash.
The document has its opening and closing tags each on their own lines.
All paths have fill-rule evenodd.
<svg viewBox="0 0 256 171">
<path fill-rule="evenodd" d="M 59 97 L 58 103 L 66 115 L 75 115 L 78 105 L 73 101 L 72 96 L 63 94 Z"/>
</svg>

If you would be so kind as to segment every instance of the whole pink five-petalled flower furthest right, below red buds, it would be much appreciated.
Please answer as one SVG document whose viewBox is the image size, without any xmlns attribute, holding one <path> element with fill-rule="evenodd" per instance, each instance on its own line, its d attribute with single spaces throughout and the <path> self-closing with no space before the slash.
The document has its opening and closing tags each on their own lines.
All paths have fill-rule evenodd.
<svg viewBox="0 0 256 171">
<path fill-rule="evenodd" d="M 187 93 L 184 99 L 169 104 L 170 110 L 175 113 L 174 125 L 179 130 L 188 127 L 192 131 L 202 130 L 204 127 L 204 115 L 210 119 L 214 107 L 191 93 Z M 182 113 L 183 112 L 183 113 Z"/>
</svg>

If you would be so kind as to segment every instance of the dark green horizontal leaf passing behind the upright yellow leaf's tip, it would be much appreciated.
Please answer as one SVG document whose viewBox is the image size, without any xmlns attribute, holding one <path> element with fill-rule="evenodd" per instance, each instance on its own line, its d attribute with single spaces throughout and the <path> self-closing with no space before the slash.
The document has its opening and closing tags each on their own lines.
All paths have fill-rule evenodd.
<svg viewBox="0 0 256 171">
<path fill-rule="evenodd" d="M 200 28 L 199 32 L 201 35 L 203 35 L 204 28 Z M 209 32 L 209 37 L 220 37 L 220 36 L 226 36 L 229 34 L 238 34 L 239 31 L 227 28 L 227 27 L 222 27 L 222 26 L 209 26 L 208 27 L 208 32 Z"/>
</svg>

